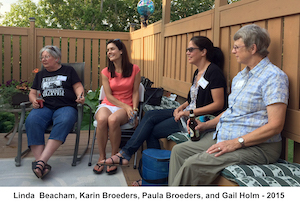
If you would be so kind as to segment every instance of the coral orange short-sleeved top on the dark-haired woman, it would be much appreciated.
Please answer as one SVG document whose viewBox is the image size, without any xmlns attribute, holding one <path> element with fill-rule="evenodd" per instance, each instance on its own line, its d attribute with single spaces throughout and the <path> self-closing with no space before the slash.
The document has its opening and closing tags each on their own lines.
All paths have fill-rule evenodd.
<svg viewBox="0 0 300 202">
<path fill-rule="evenodd" d="M 140 68 L 137 65 L 133 65 L 132 74 L 130 77 L 124 78 L 122 74 L 116 72 L 114 78 L 111 77 L 108 68 L 104 68 L 101 73 L 108 78 L 109 86 L 112 91 L 112 95 L 120 100 L 121 102 L 133 106 L 132 104 L 132 94 L 133 94 L 133 83 L 135 75 L 140 71 Z M 102 104 L 107 104 L 110 106 L 115 106 L 110 103 L 105 97 L 102 101 Z"/>
</svg>

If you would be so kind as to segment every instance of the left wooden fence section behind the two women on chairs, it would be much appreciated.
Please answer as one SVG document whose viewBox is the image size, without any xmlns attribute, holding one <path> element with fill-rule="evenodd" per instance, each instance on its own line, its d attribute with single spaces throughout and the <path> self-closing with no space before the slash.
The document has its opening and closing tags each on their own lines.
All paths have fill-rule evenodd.
<svg viewBox="0 0 300 202">
<path fill-rule="evenodd" d="M 61 49 L 63 63 L 85 62 L 85 89 L 101 85 L 101 70 L 106 67 L 106 42 L 121 39 L 130 51 L 130 35 L 126 32 L 100 32 L 35 28 L 0 27 L 0 83 L 10 79 L 32 80 L 32 70 L 41 67 L 39 50 L 45 45 Z"/>
</svg>

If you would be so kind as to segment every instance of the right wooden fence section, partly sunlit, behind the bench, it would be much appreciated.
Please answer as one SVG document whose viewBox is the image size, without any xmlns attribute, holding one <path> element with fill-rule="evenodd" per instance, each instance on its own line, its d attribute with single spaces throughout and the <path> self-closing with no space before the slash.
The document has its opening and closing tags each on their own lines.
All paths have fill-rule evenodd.
<svg viewBox="0 0 300 202">
<path fill-rule="evenodd" d="M 168 9 L 169 0 L 163 0 Z M 179 21 L 163 20 L 130 35 L 131 57 L 142 74 L 156 86 L 186 97 L 195 67 L 186 58 L 185 49 L 192 36 L 210 38 L 225 54 L 224 73 L 230 86 L 242 69 L 233 54 L 233 35 L 243 25 L 255 23 L 266 28 L 271 37 L 269 58 L 289 77 L 290 98 L 283 136 L 300 141 L 299 55 L 300 6 L 298 0 L 241 0 L 227 5 L 216 0 L 215 9 Z M 169 10 L 165 11 L 165 13 Z M 228 89 L 230 91 L 230 89 Z M 300 162 L 300 145 L 294 143 L 294 161 Z M 286 155 L 286 154 L 285 154 Z"/>
</svg>

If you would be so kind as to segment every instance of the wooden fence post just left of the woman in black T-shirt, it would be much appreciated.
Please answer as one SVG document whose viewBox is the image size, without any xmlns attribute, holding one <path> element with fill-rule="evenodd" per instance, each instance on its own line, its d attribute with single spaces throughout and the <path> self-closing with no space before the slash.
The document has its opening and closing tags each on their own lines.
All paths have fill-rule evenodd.
<svg viewBox="0 0 300 202">
<path fill-rule="evenodd" d="M 28 33 L 28 70 L 27 75 L 32 73 L 36 66 L 36 37 L 35 37 L 35 18 L 29 18 L 30 28 Z"/>
</svg>

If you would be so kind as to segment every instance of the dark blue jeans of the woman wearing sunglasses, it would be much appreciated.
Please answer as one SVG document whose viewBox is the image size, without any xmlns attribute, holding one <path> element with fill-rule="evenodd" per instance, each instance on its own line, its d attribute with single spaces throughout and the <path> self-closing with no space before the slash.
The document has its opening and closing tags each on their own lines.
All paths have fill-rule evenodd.
<svg viewBox="0 0 300 202">
<path fill-rule="evenodd" d="M 129 161 L 145 140 L 147 148 L 160 149 L 160 138 L 181 131 L 180 121 L 175 121 L 173 111 L 174 109 L 160 109 L 146 112 L 132 137 L 121 149 L 122 156 Z"/>
</svg>

